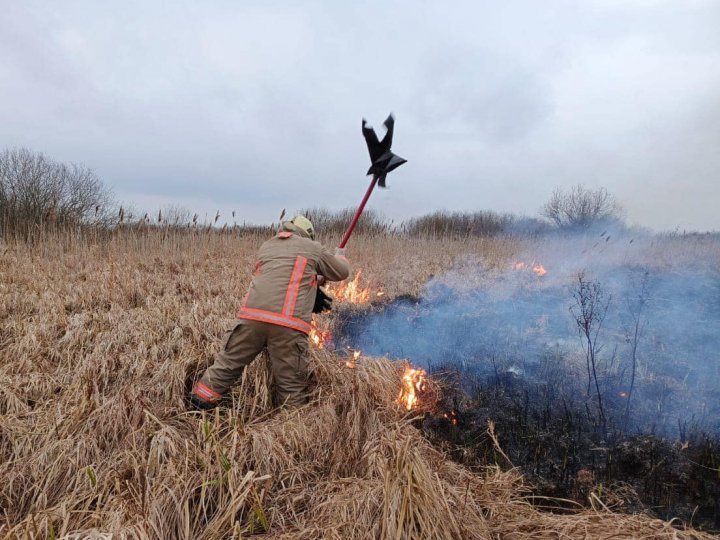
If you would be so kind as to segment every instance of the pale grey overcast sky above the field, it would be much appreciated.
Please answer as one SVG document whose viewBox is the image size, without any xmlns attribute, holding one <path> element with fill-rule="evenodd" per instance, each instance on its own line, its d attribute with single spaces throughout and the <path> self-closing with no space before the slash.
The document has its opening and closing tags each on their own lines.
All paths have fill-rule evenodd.
<svg viewBox="0 0 720 540">
<path fill-rule="evenodd" d="M 720 230 L 720 0 L 0 4 L 0 149 L 137 208 L 356 206 L 361 118 L 393 111 L 408 163 L 370 207 L 396 220 L 582 183 Z"/>
</svg>

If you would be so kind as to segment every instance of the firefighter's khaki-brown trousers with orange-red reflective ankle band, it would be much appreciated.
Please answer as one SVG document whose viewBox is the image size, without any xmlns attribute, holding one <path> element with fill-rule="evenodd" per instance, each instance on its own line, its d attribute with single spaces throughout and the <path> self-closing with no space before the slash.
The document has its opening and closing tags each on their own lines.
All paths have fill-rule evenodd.
<svg viewBox="0 0 720 540">
<path fill-rule="evenodd" d="M 213 364 L 192 389 L 196 397 L 215 403 L 242 376 L 243 369 L 267 348 L 277 405 L 307 402 L 310 386 L 307 334 L 292 328 L 237 320 L 225 333 Z"/>
</svg>

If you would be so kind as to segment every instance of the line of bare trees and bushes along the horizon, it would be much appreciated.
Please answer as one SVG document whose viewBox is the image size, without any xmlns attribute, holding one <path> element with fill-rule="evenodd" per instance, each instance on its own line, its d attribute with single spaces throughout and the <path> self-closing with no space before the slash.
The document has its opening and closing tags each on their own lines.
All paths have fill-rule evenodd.
<svg viewBox="0 0 720 540">
<path fill-rule="evenodd" d="M 303 212 L 314 220 L 319 231 L 340 234 L 352 218 L 354 208 L 338 211 L 311 208 Z M 27 240 L 46 232 L 82 230 L 88 226 L 198 226 L 197 214 L 177 207 L 170 207 L 165 215 L 159 212 L 157 222 L 148 214 L 140 215 L 142 217 L 128 216 L 121 206 L 115 206 L 111 190 L 84 165 L 61 163 L 26 148 L 0 153 L 0 237 Z M 218 217 L 205 225 L 214 226 Z M 540 218 L 492 210 L 435 211 L 396 224 L 368 210 L 361 218 L 358 232 L 445 238 L 532 235 L 551 230 L 583 231 L 597 225 L 622 224 L 622 217 L 622 207 L 605 188 L 591 189 L 578 184 L 569 190 L 556 188 L 540 209 Z M 241 226 L 235 223 L 230 228 L 244 230 L 247 227 L 253 231 L 258 229 L 244 223 Z"/>
</svg>

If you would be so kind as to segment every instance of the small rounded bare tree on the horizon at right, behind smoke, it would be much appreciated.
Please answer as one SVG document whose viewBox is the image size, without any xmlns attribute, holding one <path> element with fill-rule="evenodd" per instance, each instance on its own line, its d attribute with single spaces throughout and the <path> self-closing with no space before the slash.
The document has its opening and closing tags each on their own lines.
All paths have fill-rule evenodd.
<svg viewBox="0 0 720 540">
<path fill-rule="evenodd" d="M 565 192 L 555 188 L 541 215 L 558 227 L 586 228 L 602 221 L 618 221 L 622 207 L 605 188 L 588 189 L 581 184 Z"/>
</svg>

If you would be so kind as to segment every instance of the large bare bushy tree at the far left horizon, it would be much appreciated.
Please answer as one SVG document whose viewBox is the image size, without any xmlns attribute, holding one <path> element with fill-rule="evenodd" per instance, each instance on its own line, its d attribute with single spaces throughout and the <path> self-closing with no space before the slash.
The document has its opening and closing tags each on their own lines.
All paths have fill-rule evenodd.
<svg viewBox="0 0 720 540">
<path fill-rule="evenodd" d="M 110 191 L 92 169 L 25 148 L 0 154 L 0 234 L 78 226 L 106 216 Z"/>
</svg>

